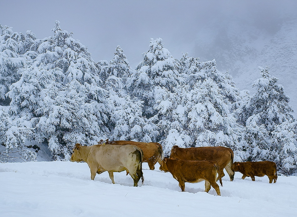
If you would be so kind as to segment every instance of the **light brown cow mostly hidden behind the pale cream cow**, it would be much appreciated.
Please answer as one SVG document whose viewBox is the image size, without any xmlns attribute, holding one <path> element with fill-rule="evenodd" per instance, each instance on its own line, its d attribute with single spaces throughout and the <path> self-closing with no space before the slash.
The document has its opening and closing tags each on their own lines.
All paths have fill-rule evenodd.
<svg viewBox="0 0 297 217">
<path fill-rule="evenodd" d="M 155 164 L 158 162 L 161 165 L 163 158 L 163 148 L 158 142 L 135 142 L 135 141 L 108 141 L 100 140 L 98 144 L 109 145 L 136 145 L 143 151 L 142 162 L 147 162 L 150 170 L 155 169 Z"/>
</svg>

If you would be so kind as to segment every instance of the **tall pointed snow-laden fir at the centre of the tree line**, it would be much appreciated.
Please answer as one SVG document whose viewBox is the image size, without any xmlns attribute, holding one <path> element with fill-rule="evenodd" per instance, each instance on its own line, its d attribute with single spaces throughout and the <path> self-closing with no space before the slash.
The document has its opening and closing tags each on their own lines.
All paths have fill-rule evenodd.
<svg viewBox="0 0 297 217">
<path fill-rule="evenodd" d="M 151 39 L 149 51 L 143 54 L 143 61 L 128 80 L 128 90 L 143 101 L 143 116 L 157 126 L 159 135 L 155 134 L 152 141 L 161 141 L 165 148 L 170 146 L 166 140 L 169 132 L 180 128 L 178 115 L 173 111 L 178 106 L 182 82 L 179 61 L 164 48 L 161 38 Z"/>
</svg>

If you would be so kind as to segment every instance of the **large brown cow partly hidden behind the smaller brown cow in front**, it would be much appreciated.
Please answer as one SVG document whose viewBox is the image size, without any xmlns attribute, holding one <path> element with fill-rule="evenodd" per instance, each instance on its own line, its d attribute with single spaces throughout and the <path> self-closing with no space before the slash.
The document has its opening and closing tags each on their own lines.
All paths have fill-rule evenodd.
<svg viewBox="0 0 297 217">
<path fill-rule="evenodd" d="M 234 180 L 234 170 L 231 168 L 233 163 L 233 151 L 230 148 L 223 146 L 208 146 L 208 147 L 191 147 L 180 148 L 174 145 L 171 149 L 170 157 L 177 160 L 213 160 L 218 162 L 222 177 L 224 168 L 230 176 L 230 180 Z"/>
</svg>

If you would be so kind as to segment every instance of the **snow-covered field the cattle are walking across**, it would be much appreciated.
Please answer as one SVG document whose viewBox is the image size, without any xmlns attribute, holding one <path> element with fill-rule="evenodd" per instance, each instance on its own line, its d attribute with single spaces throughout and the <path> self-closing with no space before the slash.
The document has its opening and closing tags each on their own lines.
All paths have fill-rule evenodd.
<svg viewBox="0 0 297 217">
<path fill-rule="evenodd" d="M 133 187 L 126 172 L 90 179 L 87 163 L 65 161 L 0 164 L 0 216 L 297 216 L 297 177 L 279 176 L 233 182 L 225 176 L 222 196 L 213 188 L 204 192 L 204 181 L 186 183 L 181 192 L 170 173 L 154 171 L 143 163 L 144 184 Z"/>
</svg>

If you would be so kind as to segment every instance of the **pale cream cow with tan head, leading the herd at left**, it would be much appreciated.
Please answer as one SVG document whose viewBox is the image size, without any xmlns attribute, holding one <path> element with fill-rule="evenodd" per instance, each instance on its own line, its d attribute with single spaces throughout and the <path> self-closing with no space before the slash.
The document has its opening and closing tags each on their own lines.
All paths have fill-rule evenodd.
<svg viewBox="0 0 297 217">
<path fill-rule="evenodd" d="M 114 184 L 113 172 L 126 170 L 138 185 L 140 178 L 143 183 L 142 151 L 135 145 L 92 145 L 76 144 L 70 161 L 85 161 L 91 170 L 91 179 L 96 173 L 108 171 L 109 178 Z"/>
</svg>

